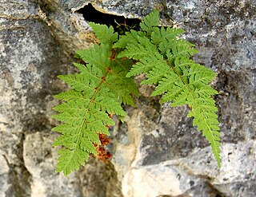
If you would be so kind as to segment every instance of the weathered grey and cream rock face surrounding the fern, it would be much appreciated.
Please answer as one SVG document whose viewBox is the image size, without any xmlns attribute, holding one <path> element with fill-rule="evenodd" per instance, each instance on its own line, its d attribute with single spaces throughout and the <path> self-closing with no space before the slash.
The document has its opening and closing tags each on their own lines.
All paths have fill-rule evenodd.
<svg viewBox="0 0 256 197">
<path fill-rule="evenodd" d="M 74 51 L 95 42 L 78 13 L 89 2 L 127 18 L 158 8 L 162 24 L 186 30 L 194 60 L 218 73 L 221 168 L 187 108 L 160 105 L 140 86 L 137 108 L 126 106 L 112 132 L 112 164 L 91 159 L 67 178 L 54 172 L 52 96 L 66 89 L 56 76 L 74 72 Z M 0 196 L 255 196 L 255 87 L 254 0 L 1 1 Z"/>
</svg>

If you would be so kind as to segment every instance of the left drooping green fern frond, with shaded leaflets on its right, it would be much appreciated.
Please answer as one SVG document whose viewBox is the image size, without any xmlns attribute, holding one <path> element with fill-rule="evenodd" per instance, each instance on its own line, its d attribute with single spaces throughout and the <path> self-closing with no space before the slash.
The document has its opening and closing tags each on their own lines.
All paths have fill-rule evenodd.
<svg viewBox="0 0 256 197">
<path fill-rule="evenodd" d="M 56 170 L 64 175 L 77 170 L 90 154 L 97 156 L 98 134 L 110 135 L 108 127 L 114 125 L 109 114 L 126 116 L 121 103 L 134 105 L 132 94 L 138 96 L 134 81 L 126 78 L 132 61 L 115 57 L 110 45 L 94 45 L 78 55 L 87 65 L 74 63 L 80 73 L 58 76 L 71 89 L 55 96 L 65 102 L 53 108 L 59 112 L 53 118 L 63 123 L 53 128 L 61 133 L 53 145 L 64 147 Z"/>
</svg>

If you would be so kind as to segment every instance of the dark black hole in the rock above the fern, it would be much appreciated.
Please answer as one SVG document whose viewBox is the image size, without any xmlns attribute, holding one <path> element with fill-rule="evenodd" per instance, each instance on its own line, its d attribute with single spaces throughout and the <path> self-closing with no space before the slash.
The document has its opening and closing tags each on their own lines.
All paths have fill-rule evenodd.
<svg viewBox="0 0 256 197">
<path fill-rule="evenodd" d="M 119 34 L 124 34 L 129 30 L 139 30 L 138 18 L 125 18 L 123 16 L 116 16 L 113 14 L 104 14 L 94 8 L 90 3 L 77 11 L 83 15 L 83 18 L 88 22 L 95 22 L 99 24 L 105 24 L 106 26 L 113 26 L 114 31 Z"/>
</svg>

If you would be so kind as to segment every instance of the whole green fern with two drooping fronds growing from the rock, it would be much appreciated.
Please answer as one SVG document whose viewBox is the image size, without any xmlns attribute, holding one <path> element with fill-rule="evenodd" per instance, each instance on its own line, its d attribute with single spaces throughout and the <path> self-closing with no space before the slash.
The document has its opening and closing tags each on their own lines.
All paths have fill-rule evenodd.
<svg viewBox="0 0 256 197">
<path fill-rule="evenodd" d="M 220 144 L 217 108 L 212 96 L 217 91 L 209 83 L 215 73 L 190 59 L 197 53 L 188 41 L 178 38 L 183 30 L 159 28 L 158 11 L 154 10 L 140 23 L 141 31 L 118 37 L 113 27 L 90 22 L 100 45 L 78 50 L 86 65 L 74 63 L 79 73 L 61 75 L 70 90 L 56 98 L 63 103 L 54 107 L 53 117 L 62 124 L 53 128 L 61 135 L 54 146 L 58 152 L 56 171 L 64 175 L 78 170 L 90 155 L 97 156 L 100 134 L 109 135 L 114 125 L 110 114 L 126 116 L 121 104 L 135 106 L 132 95 L 138 97 L 133 76 L 145 73 L 144 85 L 156 85 L 152 96 L 162 95 L 162 102 L 171 106 L 187 104 L 194 126 L 206 136 L 220 166 Z"/>
</svg>

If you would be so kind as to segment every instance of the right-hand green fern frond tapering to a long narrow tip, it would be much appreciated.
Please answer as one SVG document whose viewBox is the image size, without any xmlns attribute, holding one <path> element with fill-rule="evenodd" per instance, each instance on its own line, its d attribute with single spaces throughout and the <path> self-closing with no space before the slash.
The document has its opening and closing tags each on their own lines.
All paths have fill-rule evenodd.
<svg viewBox="0 0 256 197">
<path fill-rule="evenodd" d="M 190 59 L 197 50 L 178 37 L 183 30 L 156 27 L 157 15 L 152 13 L 141 23 L 146 34 L 127 33 L 114 45 L 125 46 L 118 57 L 137 61 L 126 77 L 146 73 L 142 84 L 157 85 L 152 96 L 162 95 L 161 101 L 171 102 L 173 107 L 189 105 L 188 116 L 194 117 L 194 126 L 206 136 L 220 166 L 218 116 L 212 98 L 218 92 L 209 85 L 216 74 Z"/>
</svg>

